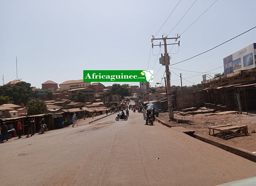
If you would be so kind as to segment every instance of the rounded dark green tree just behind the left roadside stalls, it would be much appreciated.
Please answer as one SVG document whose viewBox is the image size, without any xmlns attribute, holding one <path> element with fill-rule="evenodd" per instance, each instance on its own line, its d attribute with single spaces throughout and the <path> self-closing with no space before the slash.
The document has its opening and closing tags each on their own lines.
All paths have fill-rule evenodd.
<svg viewBox="0 0 256 186">
<path fill-rule="evenodd" d="M 31 100 L 27 103 L 27 115 L 36 115 L 47 112 L 47 105 L 42 100 Z"/>
</svg>

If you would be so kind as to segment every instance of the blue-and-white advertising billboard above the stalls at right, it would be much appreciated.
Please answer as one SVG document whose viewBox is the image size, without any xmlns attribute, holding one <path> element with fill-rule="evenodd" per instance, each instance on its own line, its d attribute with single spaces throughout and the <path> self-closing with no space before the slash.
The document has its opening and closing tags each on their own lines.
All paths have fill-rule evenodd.
<svg viewBox="0 0 256 186">
<path fill-rule="evenodd" d="M 256 52 L 256 43 L 223 58 L 224 73 L 233 73 L 240 70 L 247 70 L 256 67 L 254 53 Z"/>
</svg>

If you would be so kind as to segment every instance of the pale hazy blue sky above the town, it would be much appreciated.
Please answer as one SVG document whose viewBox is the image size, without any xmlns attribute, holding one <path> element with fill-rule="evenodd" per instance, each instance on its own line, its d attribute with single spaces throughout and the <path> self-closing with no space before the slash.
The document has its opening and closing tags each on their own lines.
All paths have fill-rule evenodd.
<svg viewBox="0 0 256 186">
<path fill-rule="evenodd" d="M 81 80 L 83 70 L 153 70 L 155 87 L 164 84 L 164 46 L 152 48 L 152 36 L 179 34 L 180 46 L 167 46 L 171 85 L 181 86 L 180 74 L 182 86 L 200 84 L 203 74 L 223 73 L 223 58 L 256 42 L 256 28 L 244 33 L 256 26 L 253 7 L 255 0 L 1 0 L 0 77 L 7 83 L 18 74 L 41 88 Z"/>
</svg>

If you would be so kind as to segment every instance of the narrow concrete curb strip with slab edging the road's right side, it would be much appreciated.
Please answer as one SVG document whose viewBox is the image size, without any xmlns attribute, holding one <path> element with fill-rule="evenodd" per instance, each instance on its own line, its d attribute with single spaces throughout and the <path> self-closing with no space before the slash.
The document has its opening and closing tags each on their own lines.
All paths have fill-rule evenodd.
<svg viewBox="0 0 256 186">
<path fill-rule="evenodd" d="M 182 127 L 182 126 L 170 126 L 167 123 L 163 122 L 162 120 L 159 120 L 158 118 L 155 118 L 155 120 L 158 121 L 159 123 L 161 123 L 164 126 L 171 127 L 172 129 L 174 129 L 176 131 L 180 131 L 182 133 L 189 134 L 190 136 L 193 136 L 194 138 L 196 138 L 198 140 L 204 141 L 204 142 L 209 143 L 209 144 L 211 144 L 213 146 L 217 146 L 219 148 L 222 148 L 225 151 L 229 151 L 230 153 L 234 153 L 234 154 L 236 154 L 238 156 L 241 156 L 241 157 L 243 157 L 245 159 L 249 159 L 249 160 L 251 160 L 253 162 L 256 162 L 256 155 L 252 154 L 251 152 L 249 152 L 247 150 L 236 148 L 234 146 L 227 146 L 227 145 L 224 145 L 222 143 L 219 143 L 219 142 L 216 142 L 216 141 L 204 138 L 204 137 L 202 137 L 202 136 L 200 136 L 198 134 L 195 134 L 195 131 L 186 129 L 186 128 Z"/>
</svg>

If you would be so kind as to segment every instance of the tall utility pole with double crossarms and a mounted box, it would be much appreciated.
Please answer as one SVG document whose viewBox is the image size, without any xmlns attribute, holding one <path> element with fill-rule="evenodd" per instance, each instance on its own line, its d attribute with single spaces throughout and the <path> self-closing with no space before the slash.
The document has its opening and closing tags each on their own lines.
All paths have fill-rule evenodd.
<svg viewBox="0 0 256 186">
<path fill-rule="evenodd" d="M 173 114 L 173 107 L 172 107 L 172 93 L 171 93 L 171 81 L 170 81 L 170 70 L 169 70 L 169 63 L 170 63 L 170 58 L 169 55 L 167 53 L 167 45 L 179 45 L 180 46 L 180 41 L 178 43 L 172 43 L 172 44 L 167 44 L 166 40 L 175 40 L 177 41 L 177 39 L 180 38 L 180 36 L 177 36 L 176 38 L 168 38 L 163 37 L 162 38 L 155 38 L 153 36 L 153 38 L 151 39 L 152 42 L 152 48 L 153 46 L 160 46 L 161 47 L 161 42 L 159 45 L 154 45 L 153 41 L 154 40 L 163 40 L 164 42 L 164 62 L 162 61 L 162 65 L 165 65 L 165 74 L 166 74 L 166 80 L 167 80 L 167 100 L 168 100 L 168 113 L 169 113 L 169 120 L 173 120 L 174 119 L 174 114 Z M 160 60 L 161 61 L 161 60 Z"/>
</svg>

